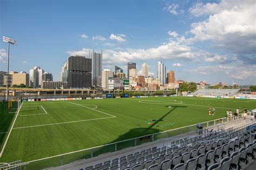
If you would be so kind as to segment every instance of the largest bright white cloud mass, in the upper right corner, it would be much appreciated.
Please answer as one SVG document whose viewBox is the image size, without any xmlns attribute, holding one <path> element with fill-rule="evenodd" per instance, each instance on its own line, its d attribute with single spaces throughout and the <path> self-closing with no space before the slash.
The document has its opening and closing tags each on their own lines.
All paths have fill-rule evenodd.
<svg viewBox="0 0 256 170">
<path fill-rule="evenodd" d="M 203 22 L 191 24 L 192 39 L 210 40 L 215 48 L 235 54 L 255 54 L 255 9 L 254 1 L 198 3 L 190 9 L 192 15 L 210 16 Z"/>
</svg>

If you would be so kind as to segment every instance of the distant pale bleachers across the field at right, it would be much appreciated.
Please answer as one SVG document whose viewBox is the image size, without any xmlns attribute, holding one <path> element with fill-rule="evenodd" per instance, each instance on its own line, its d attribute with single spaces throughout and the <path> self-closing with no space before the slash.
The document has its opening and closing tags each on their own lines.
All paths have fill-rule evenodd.
<svg viewBox="0 0 256 170">
<path fill-rule="evenodd" d="M 234 96 L 240 89 L 199 89 L 192 93 L 194 96 Z"/>
</svg>

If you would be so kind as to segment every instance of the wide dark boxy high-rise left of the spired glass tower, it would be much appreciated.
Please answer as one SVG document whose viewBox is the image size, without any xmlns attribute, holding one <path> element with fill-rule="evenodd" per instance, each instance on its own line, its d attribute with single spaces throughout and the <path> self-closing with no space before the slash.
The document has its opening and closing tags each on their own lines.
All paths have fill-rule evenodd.
<svg viewBox="0 0 256 170">
<path fill-rule="evenodd" d="M 84 56 L 70 56 L 68 59 L 68 86 L 88 88 L 92 82 L 92 59 Z"/>
</svg>

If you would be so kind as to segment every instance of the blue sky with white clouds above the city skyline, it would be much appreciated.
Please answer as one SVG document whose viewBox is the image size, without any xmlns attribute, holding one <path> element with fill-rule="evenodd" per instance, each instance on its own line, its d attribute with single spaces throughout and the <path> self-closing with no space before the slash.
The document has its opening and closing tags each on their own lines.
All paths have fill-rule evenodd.
<svg viewBox="0 0 256 170">
<path fill-rule="evenodd" d="M 60 80 L 70 55 L 103 49 L 103 68 L 126 72 L 157 61 L 181 63 L 186 81 L 256 84 L 254 1 L 0 1 L 0 34 L 18 41 L 10 70 L 34 66 Z M 0 70 L 6 70 L 0 42 Z M 140 73 L 140 72 L 139 72 Z"/>
</svg>

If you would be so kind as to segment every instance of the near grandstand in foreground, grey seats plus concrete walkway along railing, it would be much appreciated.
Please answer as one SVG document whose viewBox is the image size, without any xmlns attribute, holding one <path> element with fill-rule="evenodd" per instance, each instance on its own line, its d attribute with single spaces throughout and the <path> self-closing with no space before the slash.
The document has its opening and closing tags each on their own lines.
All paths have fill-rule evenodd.
<svg viewBox="0 0 256 170">
<path fill-rule="evenodd" d="M 239 117 L 51 169 L 255 169 L 255 132 L 254 115 Z"/>
</svg>

